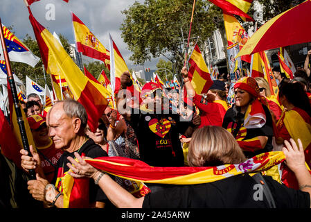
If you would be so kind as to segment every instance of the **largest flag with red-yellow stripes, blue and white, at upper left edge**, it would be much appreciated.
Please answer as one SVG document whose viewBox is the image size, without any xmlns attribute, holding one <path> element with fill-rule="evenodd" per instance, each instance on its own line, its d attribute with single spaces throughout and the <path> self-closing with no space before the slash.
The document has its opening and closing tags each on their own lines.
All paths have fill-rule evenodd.
<svg viewBox="0 0 311 222">
<path fill-rule="evenodd" d="M 3 35 L 11 62 L 23 62 L 31 67 L 35 67 L 35 65 L 37 65 L 40 59 L 35 56 L 33 52 L 30 51 L 30 49 L 28 49 L 27 46 L 23 44 L 23 42 L 21 42 L 13 33 L 11 33 L 6 26 L 3 26 Z M 4 60 L 1 48 L 0 60 Z"/>
</svg>

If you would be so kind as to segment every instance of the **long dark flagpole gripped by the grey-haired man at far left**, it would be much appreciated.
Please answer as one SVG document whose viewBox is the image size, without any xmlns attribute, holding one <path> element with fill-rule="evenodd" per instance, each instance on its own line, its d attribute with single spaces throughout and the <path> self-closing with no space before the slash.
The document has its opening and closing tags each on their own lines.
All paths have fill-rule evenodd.
<svg viewBox="0 0 311 222">
<path fill-rule="evenodd" d="M 26 151 L 28 151 L 28 155 L 31 157 L 32 155 L 31 155 L 30 149 L 29 149 L 24 119 L 23 119 L 23 115 L 21 113 L 21 105 L 19 104 L 15 80 L 14 80 L 14 77 L 12 75 L 12 69 L 11 69 L 11 65 L 10 65 L 10 58 L 8 57 L 8 51 L 6 49 L 6 41 L 4 40 L 1 18 L 0 18 L 0 28 L 1 28 L 0 37 L 1 37 L 1 45 L 2 45 L 2 49 L 3 49 L 3 56 L 4 56 L 4 59 L 6 60 L 6 70 L 8 71 L 8 83 L 10 84 L 11 93 L 12 93 L 12 97 L 13 97 L 13 103 L 14 103 L 13 105 L 15 106 L 15 110 L 16 110 L 17 123 L 19 125 L 19 132 L 21 133 L 21 141 L 23 142 L 24 149 Z M 24 112 L 24 110 L 23 110 L 23 112 Z M 32 180 L 35 180 L 35 178 L 36 178 L 35 170 L 31 169 L 31 170 L 29 170 L 29 173 L 30 173 L 30 178 Z"/>
</svg>

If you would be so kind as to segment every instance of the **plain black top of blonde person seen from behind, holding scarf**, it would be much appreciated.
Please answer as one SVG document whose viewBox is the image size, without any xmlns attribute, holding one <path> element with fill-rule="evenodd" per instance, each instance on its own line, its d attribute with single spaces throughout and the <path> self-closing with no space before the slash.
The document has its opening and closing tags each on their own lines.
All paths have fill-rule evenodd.
<svg viewBox="0 0 311 222">
<path fill-rule="evenodd" d="M 290 189 L 264 176 L 277 208 L 310 208 L 310 194 Z M 143 208 L 267 208 L 265 195 L 258 194 L 248 174 L 201 185 L 172 185 L 147 194 Z"/>
</svg>

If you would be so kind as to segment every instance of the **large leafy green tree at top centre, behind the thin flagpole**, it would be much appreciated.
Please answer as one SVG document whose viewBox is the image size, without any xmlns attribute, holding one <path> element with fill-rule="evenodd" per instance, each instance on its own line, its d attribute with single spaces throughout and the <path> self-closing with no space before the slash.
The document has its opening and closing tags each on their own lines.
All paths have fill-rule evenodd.
<svg viewBox="0 0 311 222">
<path fill-rule="evenodd" d="M 207 0 L 196 1 L 191 37 L 199 36 L 200 47 L 216 28 L 213 18 L 222 16 L 220 9 L 210 6 Z M 124 10 L 121 36 L 133 53 L 130 60 L 142 65 L 152 57 L 165 56 L 179 72 L 184 65 L 192 8 L 193 0 L 145 0 Z"/>
</svg>

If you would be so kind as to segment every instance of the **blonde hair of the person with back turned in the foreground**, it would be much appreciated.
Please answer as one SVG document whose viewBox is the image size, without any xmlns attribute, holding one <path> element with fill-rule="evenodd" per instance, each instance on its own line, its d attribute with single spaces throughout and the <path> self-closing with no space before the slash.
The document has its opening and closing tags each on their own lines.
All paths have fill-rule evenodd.
<svg viewBox="0 0 311 222">
<path fill-rule="evenodd" d="M 220 126 L 195 130 L 188 148 L 190 167 L 216 167 L 239 164 L 246 157 L 233 135 Z"/>
</svg>

